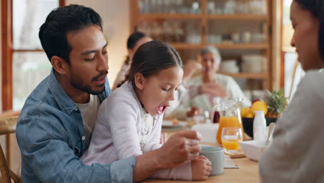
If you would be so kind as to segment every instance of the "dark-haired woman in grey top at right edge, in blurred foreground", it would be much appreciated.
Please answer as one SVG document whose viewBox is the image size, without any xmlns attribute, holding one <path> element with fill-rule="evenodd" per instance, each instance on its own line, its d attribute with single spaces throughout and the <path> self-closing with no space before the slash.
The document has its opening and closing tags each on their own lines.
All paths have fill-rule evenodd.
<svg viewBox="0 0 324 183">
<path fill-rule="evenodd" d="M 324 40 L 323 25 L 320 29 L 319 24 L 323 7 L 322 0 L 291 3 L 294 28 L 291 46 L 296 47 L 298 61 L 306 74 L 277 121 L 271 147 L 261 158 L 262 182 L 324 182 Z"/>
</svg>

